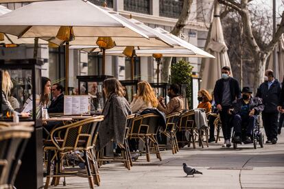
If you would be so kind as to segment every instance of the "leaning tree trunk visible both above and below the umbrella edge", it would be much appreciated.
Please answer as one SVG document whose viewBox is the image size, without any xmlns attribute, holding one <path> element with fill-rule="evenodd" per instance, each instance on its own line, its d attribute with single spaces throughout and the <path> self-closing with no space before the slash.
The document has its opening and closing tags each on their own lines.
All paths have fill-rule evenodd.
<svg viewBox="0 0 284 189">
<path fill-rule="evenodd" d="M 176 25 L 174 26 L 174 29 L 171 30 L 171 34 L 174 34 L 175 36 L 179 36 L 182 28 L 184 28 L 187 25 L 187 20 L 189 18 L 192 2 L 193 0 L 183 1 L 182 11 L 178 18 L 178 21 L 176 22 Z M 161 80 L 162 82 L 167 82 L 169 81 L 169 66 L 171 66 L 171 58 L 163 58 L 162 65 L 163 66 L 161 70 Z"/>
</svg>

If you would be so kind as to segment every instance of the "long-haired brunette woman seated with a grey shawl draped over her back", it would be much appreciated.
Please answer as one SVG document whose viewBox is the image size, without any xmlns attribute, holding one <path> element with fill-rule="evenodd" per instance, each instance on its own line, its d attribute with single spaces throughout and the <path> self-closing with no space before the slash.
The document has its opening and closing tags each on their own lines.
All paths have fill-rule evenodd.
<svg viewBox="0 0 284 189">
<path fill-rule="evenodd" d="M 107 101 L 102 111 L 104 121 L 99 125 L 99 149 L 104 148 L 111 140 L 123 143 L 126 118 L 131 114 L 130 105 L 123 97 L 123 89 L 117 79 L 106 79 L 103 90 Z"/>
</svg>

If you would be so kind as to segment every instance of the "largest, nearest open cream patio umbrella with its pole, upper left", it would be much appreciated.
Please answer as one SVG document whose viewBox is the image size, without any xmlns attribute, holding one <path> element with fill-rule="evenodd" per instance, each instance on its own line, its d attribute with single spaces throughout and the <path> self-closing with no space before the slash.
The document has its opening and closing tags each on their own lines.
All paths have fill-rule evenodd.
<svg viewBox="0 0 284 189">
<path fill-rule="evenodd" d="M 145 38 L 145 41 L 148 38 L 141 31 L 83 0 L 31 3 L 0 16 L 0 32 L 19 38 L 38 37 L 54 43 L 61 41 L 61 45 L 65 43 L 65 86 L 69 84 L 70 41 L 80 41 L 80 45 L 93 45 L 97 41 L 100 47 L 107 49 L 115 45 L 113 40 L 121 37 Z"/>
</svg>

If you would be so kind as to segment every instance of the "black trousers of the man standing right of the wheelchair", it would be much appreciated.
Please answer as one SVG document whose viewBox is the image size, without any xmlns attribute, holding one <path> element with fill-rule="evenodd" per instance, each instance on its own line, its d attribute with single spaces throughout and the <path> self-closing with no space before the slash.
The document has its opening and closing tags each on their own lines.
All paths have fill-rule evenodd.
<svg viewBox="0 0 284 189">
<path fill-rule="evenodd" d="M 276 138 L 277 140 L 277 120 L 278 112 L 262 112 L 263 126 L 268 140 Z"/>
</svg>

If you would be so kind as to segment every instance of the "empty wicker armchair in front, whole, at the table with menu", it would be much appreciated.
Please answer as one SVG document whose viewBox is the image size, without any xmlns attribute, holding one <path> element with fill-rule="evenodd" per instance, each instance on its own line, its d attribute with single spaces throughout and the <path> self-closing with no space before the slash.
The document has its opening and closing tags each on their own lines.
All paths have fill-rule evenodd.
<svg viewBox="0 0 284 189">
<path fill-rule="evenodd" d="M 104 116 L 86 118 L 82 121 L 64 125 L 51 131 L 51 140 L 45 140 L 44 142 L 44 150 L 47 151 L 48 154 L 47 180 L 45 188 L 48 188 L 51 177 L 54 177 L 51 184 L 57 186 L 59 184 L 60 177 L 85 176 L 80 174 L 78 171 L 68 172 L 62 170 L 62 160 L 64 155 L 75 151 L 84 152 L 83 159 L 90 188 L 94 188 L 94 180 L 95 184 L 99 185 L 100 180 L 96 165 L 97 162 L 92 150 L 95 140 L 97 140 L 98 123 L 103 120 Z M 58 134 L 60 134 L 59 136 L 62 136 L 63 134 L 63 139 L 60 139 Z M 53 160 L 55 162 L 54 174 L 51 175 L 51 162 Z"/>
</svg>

